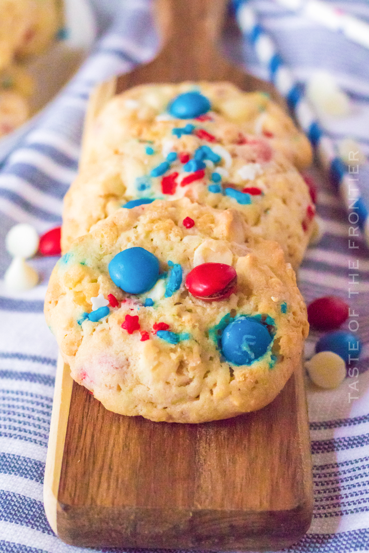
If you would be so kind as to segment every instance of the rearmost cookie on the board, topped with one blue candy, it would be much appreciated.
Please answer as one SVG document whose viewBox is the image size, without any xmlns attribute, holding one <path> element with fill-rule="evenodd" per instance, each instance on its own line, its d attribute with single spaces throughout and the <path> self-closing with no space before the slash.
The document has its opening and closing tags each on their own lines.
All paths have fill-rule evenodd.
<svg viewBox="0 0 369 553">
<path fill-rule="evenodd" d="M 312 161 L 311 145 L 292 119 L 264 92 L 243 92 L 229 82 L 183 82 L 181 84 L 141 85 L 110 100 L 96 121 L 91 144 L 101 158 L 114 151 L 127 137 L 144 138 L 153 123 L 172 117 L 170 106 L 184 93 L 198 91 L 208 98 L 211 111 L 182 122 L 201 123 L 222 145 L 234 144 L 239 133 L 264 137 L 299 170 Z M 177 116 L 176 112 L 173 112 Z M 189 113 L 191 115 L 191 113 Z"/>
</svg>

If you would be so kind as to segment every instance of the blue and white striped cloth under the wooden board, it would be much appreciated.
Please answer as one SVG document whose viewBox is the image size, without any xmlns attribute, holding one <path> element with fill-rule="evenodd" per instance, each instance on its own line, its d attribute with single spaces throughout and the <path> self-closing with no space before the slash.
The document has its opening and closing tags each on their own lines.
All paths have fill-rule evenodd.
<svg viewBox="0 0 369 553">
<path fill-rule="evenodd" d="M 354 136 L 368 154 L 369 51 L 271 0 L 251 0 L 250 5 L 300 82 L 317 67 L 335 75 L 355 109 L 349 122 L 323 121 L 323 126 L 334 140 L 347 133 Z M 95 49 L 0 167 L 1 276 L 11 261 L 4 236 L 14 223 L 30 222 L 40 233 L 60 223 L 61 201 L 76 175 L 81 126 L 93 85 L 148 60 L 157 49 L 147 0 L 91 0 L 91 6 L 100 30 Z M 366 1 L 346 0 L 337 6 L 369 20 Z M 234 26 L 228 26 L 225 41 L 235 61 L 267 77 L 252 45 L 236 36 Z M 300 289 L 306 302 L 328 294 L 344 298 L 355 314 L 350 320 L 358 321 L 357 335 L 364 347 L 360 362 L 351 366 L 358 370 L 351 371 L 352 377 L 339 389 L 308 388 L 314 518 L 308 534 L 288 551 L 369 551 L 369 252 L 361 237 L 349 238 L 340 198 L 318 171 L 315 178 L 320 186 L 317 209 L 326 233 L 306 252 Z M 369 166 L 360 168 L 359 178 L 369 182 Z M 355 248 L 349 249 L 349 239 L 351 245 L 354 239 Z M 0 281 L 0 553 L 82 553 L 56 538 L 43 510 L 57 347 L 42 311 L 55 258 L 34 258 L 30 263 L 42 275 L 33 290 L 11 294 Z M 308 356 L 317 337 L 310 333 Z"/>
</svg>

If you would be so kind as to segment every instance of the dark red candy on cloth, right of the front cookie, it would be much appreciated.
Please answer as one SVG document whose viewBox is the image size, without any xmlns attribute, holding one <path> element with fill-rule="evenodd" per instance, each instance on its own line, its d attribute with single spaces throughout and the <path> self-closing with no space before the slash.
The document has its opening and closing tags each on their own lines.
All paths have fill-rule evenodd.
<svg viewBox="0 0 369 553">
<path fill-rule="evenodd" d="M 308 306 L 308 321 L 316 330 L 339 328 L 348 316 L 349 306 L 337 296 L 318 298 Z"/>
</svg>

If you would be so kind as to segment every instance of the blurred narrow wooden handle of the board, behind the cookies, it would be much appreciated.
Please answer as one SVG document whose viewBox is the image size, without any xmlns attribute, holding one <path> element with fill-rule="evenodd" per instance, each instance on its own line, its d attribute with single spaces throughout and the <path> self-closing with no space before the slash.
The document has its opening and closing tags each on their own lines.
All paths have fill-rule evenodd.
<svg viewBox="0 0 369 553">
<path fill-rule="evenodd" d="M 224 26 L 228 0 L 157 0 L 154 15 L 162 50 L 176 67 L 181 80 L 211 80 L 214 67 L 222 63 L 217 43 Z M 172 61 L 173 60 L 173 61 Z"/>
</svg>

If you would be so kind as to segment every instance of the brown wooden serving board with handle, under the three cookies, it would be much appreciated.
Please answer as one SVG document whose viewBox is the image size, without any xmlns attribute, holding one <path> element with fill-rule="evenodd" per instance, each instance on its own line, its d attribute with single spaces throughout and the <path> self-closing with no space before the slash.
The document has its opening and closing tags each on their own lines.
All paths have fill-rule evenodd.
<svg viewBox="0 0 369 553">
<path fill-rule="evenodd" d="M 128 75 L 103 83 L 91 128 L 117 92 L 145 82 L 227 80 L 271 85 L 228 64 L 214 48 L 226 0 L 158 0 L 165 45 Z M 151 422 L 107 411 L 73 382 L 61 357 L 44 503 L 51 527 L 72 545 L 201 550 L 278 550 L 299 540 L 312 516 L 308 416 L 302 365 L 266 408 L 204 424 Z"/>
</svg>

